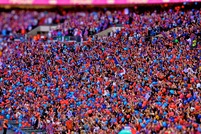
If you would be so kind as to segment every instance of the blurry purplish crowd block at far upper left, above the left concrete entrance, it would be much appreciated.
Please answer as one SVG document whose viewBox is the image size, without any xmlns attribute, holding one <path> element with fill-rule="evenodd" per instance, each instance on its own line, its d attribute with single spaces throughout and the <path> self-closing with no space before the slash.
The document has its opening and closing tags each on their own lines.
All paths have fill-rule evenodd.
<svg viewBox="0 0 201 134">
<path fill-rule="evenodd" d="M 25 35 L 40 25 L 63 22 L 62 14 L 51 11 L 11 10 L 0 12 L 0 37 Z"/>
</svg>

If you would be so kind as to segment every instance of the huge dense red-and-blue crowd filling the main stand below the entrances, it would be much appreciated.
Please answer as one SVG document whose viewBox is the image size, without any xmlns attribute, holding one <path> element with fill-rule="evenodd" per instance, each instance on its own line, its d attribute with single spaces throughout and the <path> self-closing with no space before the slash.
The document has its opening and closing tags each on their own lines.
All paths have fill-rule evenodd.
<svg viewBox="0 0 201 134">
<path fill-rule="evenodd" d="M 66 16 L 61 34 L 124 28 L 82 43 L 2 42 L 2 115 L 48 134 L 201 133 L 201 10 Z"/>
</svg>

